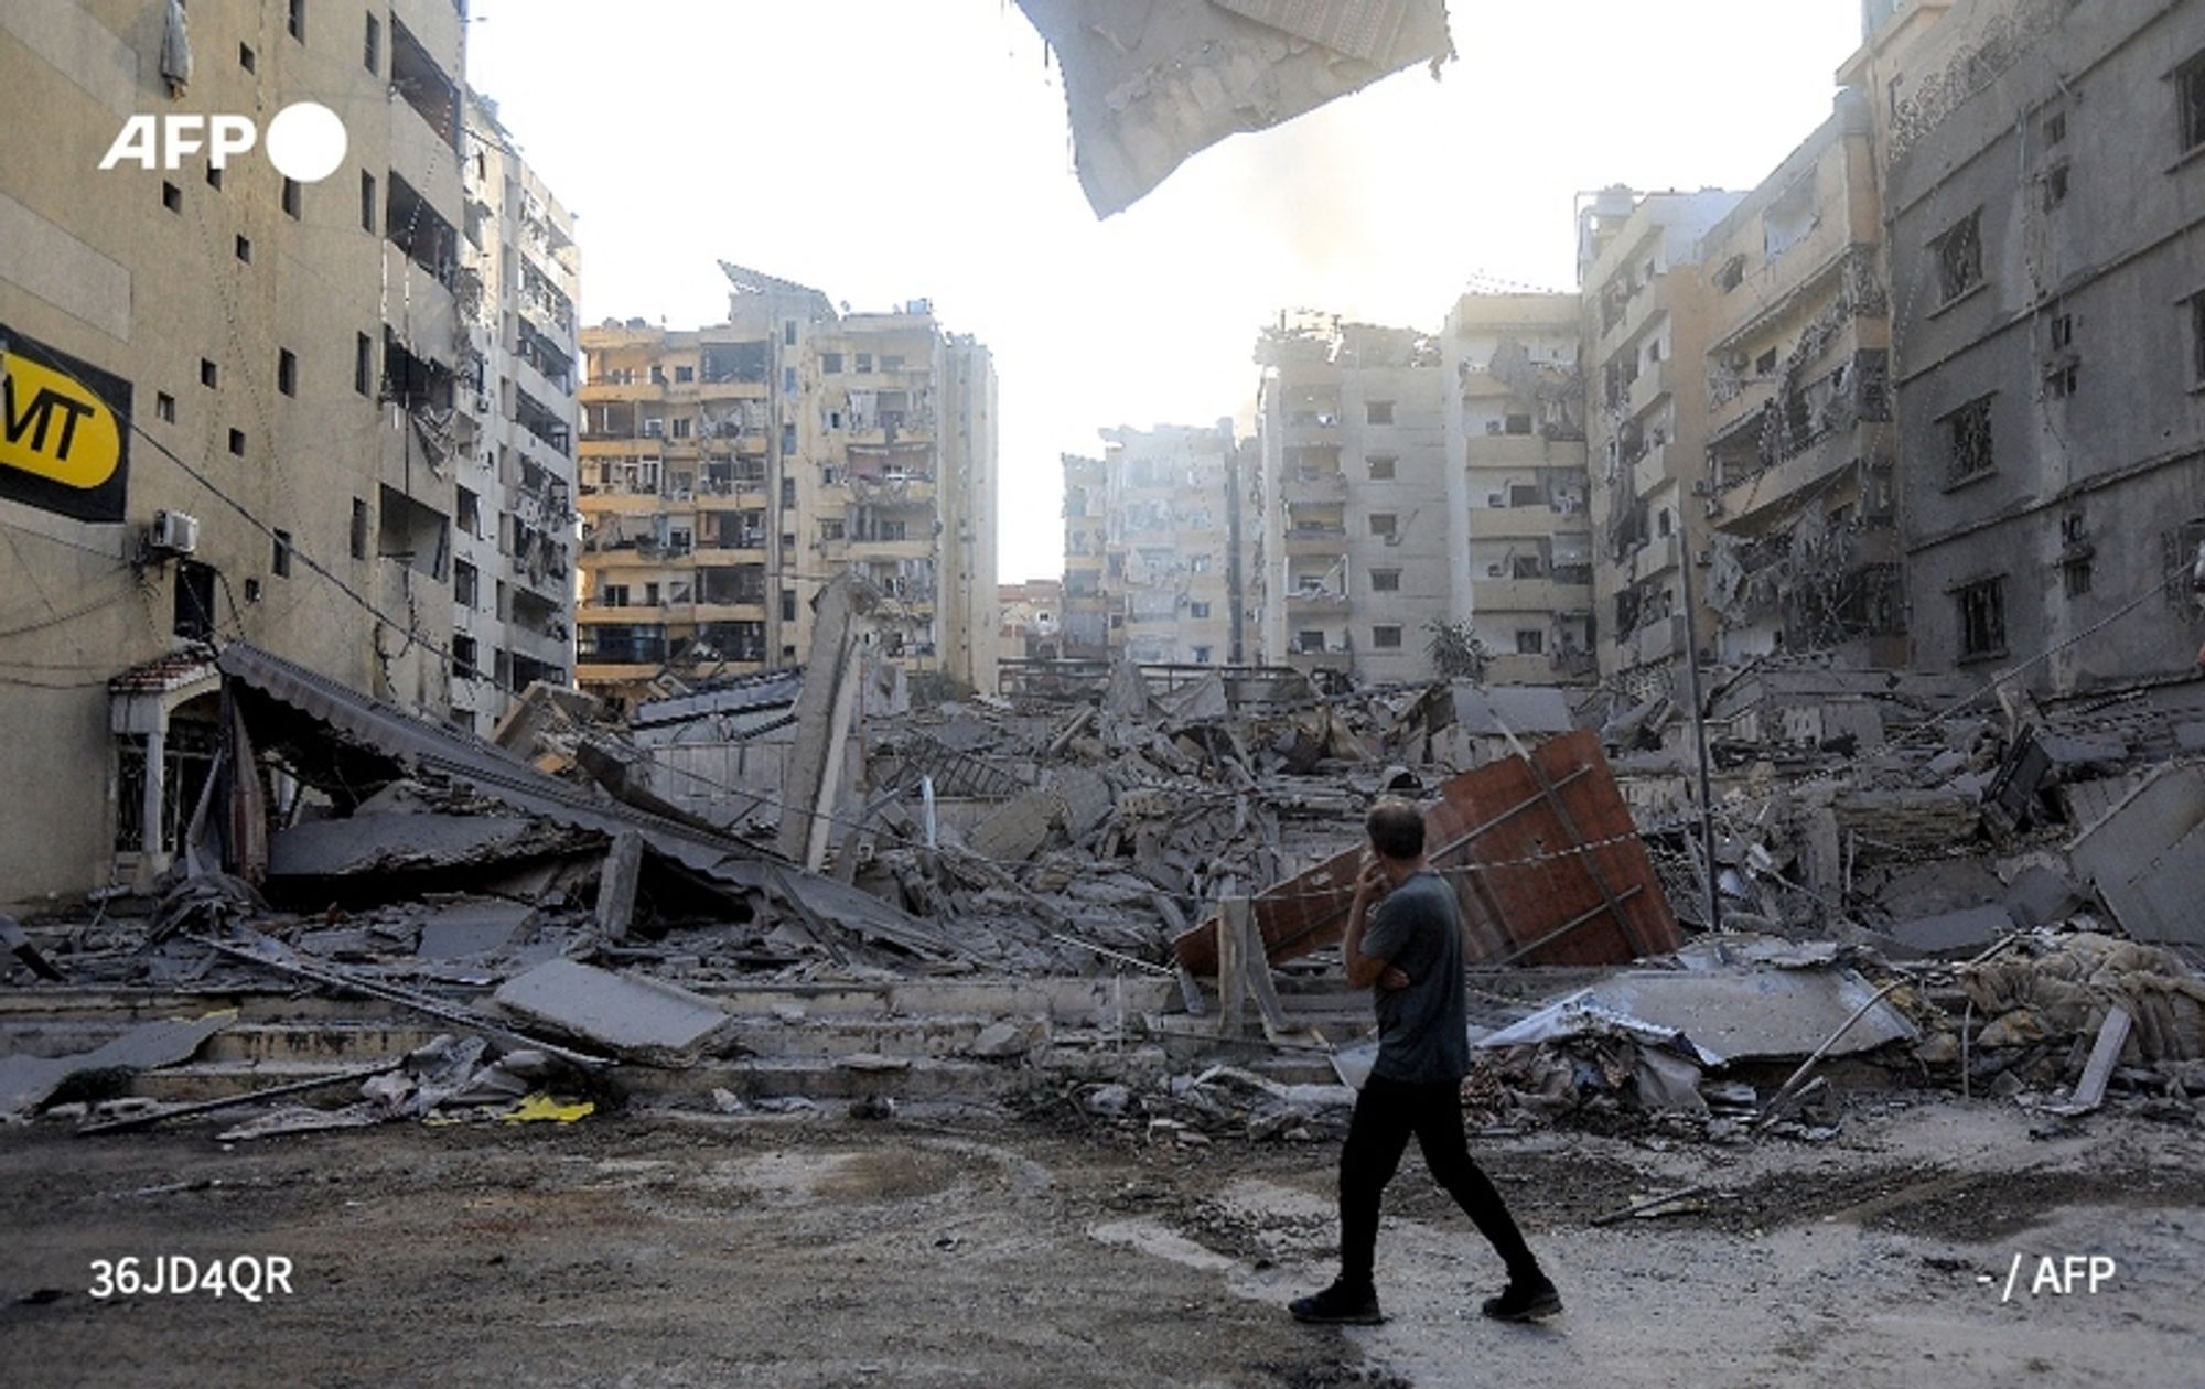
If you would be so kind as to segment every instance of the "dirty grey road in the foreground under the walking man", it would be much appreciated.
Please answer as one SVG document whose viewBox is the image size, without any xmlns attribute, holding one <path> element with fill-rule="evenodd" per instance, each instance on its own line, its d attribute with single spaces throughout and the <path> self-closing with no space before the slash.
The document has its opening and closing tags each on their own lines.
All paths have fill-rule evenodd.
<svg viewBox="0 0 2205 1389">
<path fill-rule="evenodd" d="M 1491 1255 L 1411 1169 L 1391 1321 L 1310 1332 L 1330 1144 L 1147 1144 L 983 1116 L 613 1116 L 229 1149 L 0 1131 L 20 1385 L 2196 1385 L 2205 1140 L 2009 1107 L 1835 1144 L 1530 1135 L 1482 1153 L 1570 1310 L 1469 1312 Z M 1636 1195 L 1704 1208 L 1594 1226 Z M 95 1299 L 93 1259 L 282 1255 L 293 1292 Z M 2013 1257 L 2026 1268 L 2002 1301 Z M 2101 1255 L 2097 1292 L 2037 1283 Z"/>
</svg>

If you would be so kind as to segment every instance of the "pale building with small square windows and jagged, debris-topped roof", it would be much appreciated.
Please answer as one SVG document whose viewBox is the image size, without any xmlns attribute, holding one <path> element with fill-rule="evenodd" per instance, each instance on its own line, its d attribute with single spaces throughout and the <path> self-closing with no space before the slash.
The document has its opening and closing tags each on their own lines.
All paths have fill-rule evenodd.
<svg viewBox="0 0 2205 1389">
<path fill-rule="evenodd" d="M 1413 329 L 1281 315 L 1257 342 L 1263 650 L 1363 683 L 1433 672 L 1451 617 L 1446 381 Z"/>
</svg>

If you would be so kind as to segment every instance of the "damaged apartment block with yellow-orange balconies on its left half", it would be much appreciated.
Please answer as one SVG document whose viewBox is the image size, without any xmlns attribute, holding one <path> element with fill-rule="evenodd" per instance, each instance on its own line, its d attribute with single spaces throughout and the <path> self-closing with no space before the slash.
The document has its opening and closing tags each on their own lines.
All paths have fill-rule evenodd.
<svg viewBox="0 0 2205 1389">
<path fill-rule="evenodd" d="M 836 313 L 721 265 L 728 322 L 582 331 L 578 679 L 637 701 L 796 666 L 840 573 L 880 591 L 906 677 L 997 683 L 997 414 L 988 348 L 926 300 Z"/>
</svg>

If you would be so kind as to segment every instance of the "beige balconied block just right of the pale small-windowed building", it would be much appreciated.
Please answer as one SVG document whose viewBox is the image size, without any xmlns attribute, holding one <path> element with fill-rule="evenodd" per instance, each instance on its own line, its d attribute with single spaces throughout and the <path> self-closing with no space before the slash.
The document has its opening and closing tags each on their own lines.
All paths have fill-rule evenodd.
<svg viewBox="0 0 2205 1389">
<path fill-rule="evenodd" d="M 1469 293 L 1440 335 L 1449 604 L 1488 683 L 1594 672 L 1579 315 L 1574 293 Z"/>
</svg>

